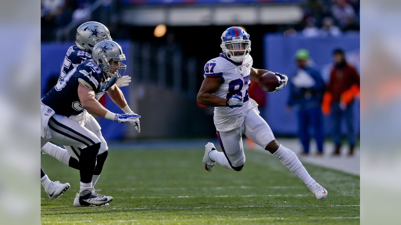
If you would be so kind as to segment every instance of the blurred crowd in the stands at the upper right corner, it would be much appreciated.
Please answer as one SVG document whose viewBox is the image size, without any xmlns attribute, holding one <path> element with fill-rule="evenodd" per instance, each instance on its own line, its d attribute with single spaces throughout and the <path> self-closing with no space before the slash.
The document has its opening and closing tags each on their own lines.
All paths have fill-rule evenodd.
<svg viewBox="0 0 401 225">
<path fill-rule="evenodd" d="M 304 36 L 340 36 L 359 30 L 360 0 L 306 0 L 302 10 Z"/>
</svg>

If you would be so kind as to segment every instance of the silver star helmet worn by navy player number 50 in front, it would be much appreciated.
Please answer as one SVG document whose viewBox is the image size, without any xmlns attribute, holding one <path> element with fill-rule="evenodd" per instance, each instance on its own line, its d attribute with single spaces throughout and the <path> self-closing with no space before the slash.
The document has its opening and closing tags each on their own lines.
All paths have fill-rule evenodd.
<svg viewBox="0 0 401 225">
<path fill-rule="evenodd" d="M 120 78 L 126 72 L 127 66 L 121 62 L 126 59 L 125 55 L 121 46 L 115 41 L 103 40 L 98 42 L 93 47 L 92 58 L 109 76 Z M 115 65 L 115 61 L 118 61 L 118 66 Z M 113 72 L 114 69 L 116 69 L 115 72 Z"/>
</svg>

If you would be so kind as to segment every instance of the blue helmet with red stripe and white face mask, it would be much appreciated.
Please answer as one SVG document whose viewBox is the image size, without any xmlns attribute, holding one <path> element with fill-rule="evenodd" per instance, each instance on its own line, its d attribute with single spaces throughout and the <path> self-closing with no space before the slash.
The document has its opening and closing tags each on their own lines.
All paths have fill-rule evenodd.
<svg viewBox="0 0 401 225">
<path fill-rule="evenodd" d="M 249 34 L 237 26 L 227 28 L 221 35 L 221 49 L 234 62 L 241 62 L 251 51 Z"/>
</svg>

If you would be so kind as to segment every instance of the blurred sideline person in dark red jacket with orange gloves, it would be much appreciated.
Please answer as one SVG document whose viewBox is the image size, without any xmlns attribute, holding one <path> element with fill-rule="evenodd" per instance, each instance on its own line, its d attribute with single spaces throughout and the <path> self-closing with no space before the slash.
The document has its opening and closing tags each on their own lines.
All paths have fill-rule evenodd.
<svg viewBox="0 0 401 225">
<path fill-rule="evenodd" d="M 353 126 L 353 103 L 359 95 L 359 74 L 356 69 L 346 62 L 344 51 L 334 50 L 334 68 L 323 96 L 322 112 L 331 113 L 333 119 L 332 139 L 336 145 L 333 155 L 340 155 L 341 119 L 344 117 L 347 127 L 347 138 L 350 145 L 349 155 L 353 154 L 355 134 Z"/>
</svg>

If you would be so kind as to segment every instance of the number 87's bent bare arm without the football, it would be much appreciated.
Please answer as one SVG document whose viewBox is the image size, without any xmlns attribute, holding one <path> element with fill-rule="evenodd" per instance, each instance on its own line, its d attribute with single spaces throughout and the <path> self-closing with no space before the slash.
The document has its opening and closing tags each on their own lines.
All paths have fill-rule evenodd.
<svg viewBox="0 0 401 225">
<path fill-rule="evenodd" d="M 221 77 L 205 77 L 196 97 L 198 103 L 207 106 L 226 106 L 227 99 L 213 95 L 222 83 Z"/>
</svg>

